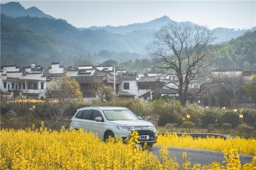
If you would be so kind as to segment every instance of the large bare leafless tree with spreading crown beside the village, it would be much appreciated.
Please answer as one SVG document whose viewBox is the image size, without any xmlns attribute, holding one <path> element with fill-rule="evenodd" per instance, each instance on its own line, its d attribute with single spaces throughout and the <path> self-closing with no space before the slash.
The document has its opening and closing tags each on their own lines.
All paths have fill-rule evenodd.
<svg viewBox="0 0 256 170">
<path fill-rule="evenodd" d="M 207 45 L 213 42 L 213 32 L 204 26 L 173 22 L 163 26 L 155 37 L 147 51 L 158 64 L 155 67 L 177 75 L 178 82 L 168 82 L 175 87 L 169 87 L 179 93 L 179 100 L 185 105 L 188 97 L 205 90 L 209 83 L 200 83 L 197 92 L 189 90 L 190 82 L 207 66 L 205 63 L 212 53 Z"/>
</svg>

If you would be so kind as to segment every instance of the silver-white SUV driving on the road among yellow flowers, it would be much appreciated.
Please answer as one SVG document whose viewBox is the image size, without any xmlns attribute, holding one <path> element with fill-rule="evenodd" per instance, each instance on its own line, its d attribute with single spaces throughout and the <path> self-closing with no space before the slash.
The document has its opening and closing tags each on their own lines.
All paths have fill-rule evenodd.
<svg viewBox="0 0 256 170">
<path fill-rule="evenodd" d="M 125 142 L 132 131 L 139 132 L 139 141 L 152 147 L 156 143 L 155 126 L 137 117 L 126 107 L 84 107 L 77 109 L 71 118 L 70 127 L 79 130 L 93 131 L 104 141 L 109 136 L 122 137 Z"/>
</svg>

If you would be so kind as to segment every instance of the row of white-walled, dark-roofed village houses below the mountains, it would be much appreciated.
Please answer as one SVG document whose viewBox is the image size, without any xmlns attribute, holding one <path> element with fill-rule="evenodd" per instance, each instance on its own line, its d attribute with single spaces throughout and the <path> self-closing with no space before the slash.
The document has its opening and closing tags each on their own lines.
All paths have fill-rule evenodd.
<svg viewBox="0 0 256 170">
<path fill-rule="evenodd" d="M 179 93 L 173 88 L 173 84 L 178 83 L 175 74 L 163 75 L 155 73 L 129 73 L 126 69 L 114 69 L 114 66 L 102 65 L 80 65 L 78 67 L 64 67 L 60 62 L 53 62 L 48 67 L 48 76 L 43 75 L 43 67 L 40 65 L 16 66 L 4 65 L 1 67 L 0 89 L 1 94 L 11 97 L 17 95 L 19 98 L 44 99 L 49 85 L 53 78 L 62 77 L 64 75 L 75 78 L 80 84 L 84 101 L 96 99 L 94 84 L 99 82 L 106 85 L 114 86 L 115 92 L 119 98 L 140 98 L 143 100 L 151 100 L 153 94 L 157 93 L 161 96 L 170 98 L 178 98 Z M 114 76 L 115 74 L 115 76 Z M 231 75 L 240 77 L 244 82 L 251 80 L 251 75 L 256 74 L 254 71 L 243 71 L 242 69 L 213 70 L 212 75 Z M 173 83 L 169 83 L 173 82 Z M 200 82 L 194 81 L 189 87 L 199 88 Z M 114 90 L 114 89 L 113 89 Z M 250 96 L 242 93 L 239 96 L 241 102 L 250 102 Z M 246 96 L 247 95 L 247 96 Z M 193 99 L 197 101 L 195 96 Z"/>
</svg>

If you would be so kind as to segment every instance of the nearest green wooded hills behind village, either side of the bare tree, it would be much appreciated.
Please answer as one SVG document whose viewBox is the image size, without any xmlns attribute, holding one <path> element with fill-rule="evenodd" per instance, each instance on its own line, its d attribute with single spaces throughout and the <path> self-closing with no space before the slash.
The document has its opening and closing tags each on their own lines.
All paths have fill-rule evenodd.
<svg viewBox="0 0 256 170">
<path fill-rule="evenodd" d="M 213 51 L 207 70 L 242 68 L 256 70 L 256 30 L 247 31 L 242 36 L 217 45 L 209 45 Z M 125 60 L 119 63 L 121 68 L 130 71 L 159 72 L 152 68 L 154 61 L 145 59 Z"/>
</svg>

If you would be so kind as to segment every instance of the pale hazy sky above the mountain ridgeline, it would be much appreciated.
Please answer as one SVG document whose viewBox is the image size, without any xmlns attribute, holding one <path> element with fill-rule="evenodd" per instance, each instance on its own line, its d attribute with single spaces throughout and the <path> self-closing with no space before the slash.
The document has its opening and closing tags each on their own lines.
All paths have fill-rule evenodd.
<svg viewBox="0 0 256 170">
<path fill-rule="evenodd" d="M 6 1 L 5 1 L 6 2 Z M 2 1 L 2 3 L 5 3 Z M 20 1 L 76 27 L 119 26 L 167 15 L 174 21 L 229 28 L 256 26 L 256 1 Z"/>
</svg>

